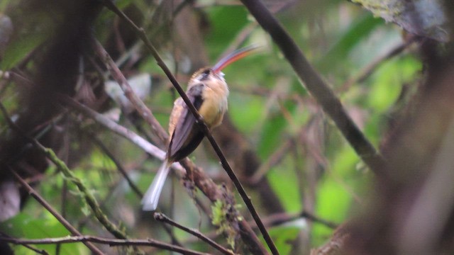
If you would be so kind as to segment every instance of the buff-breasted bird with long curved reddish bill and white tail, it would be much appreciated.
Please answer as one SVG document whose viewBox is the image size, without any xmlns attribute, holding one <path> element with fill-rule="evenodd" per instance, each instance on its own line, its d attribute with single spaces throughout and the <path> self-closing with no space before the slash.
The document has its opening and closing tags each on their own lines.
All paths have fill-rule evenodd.
<svg viewBox="0 0 454 255">
<path fill-rule="evenodd" d="M 231 52 L 219 60 L 214 67 L 201 68 L 189 79 L 186 94 L 210 130 L 221 125 L 223 115 L 228 108 L 228 86 L 221 72 L 222 69 L 250 55 L 255 49 L 257 47 L 251 45 Z M 170 113 L 169 134 L 170 140 L 165 160 L 143 196 L 143 210 L 156 210 L 170 166 L 194 152 L 204 139 L 204 132 L 181 97 L 175 100 Z"/>
</svg>

